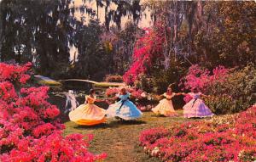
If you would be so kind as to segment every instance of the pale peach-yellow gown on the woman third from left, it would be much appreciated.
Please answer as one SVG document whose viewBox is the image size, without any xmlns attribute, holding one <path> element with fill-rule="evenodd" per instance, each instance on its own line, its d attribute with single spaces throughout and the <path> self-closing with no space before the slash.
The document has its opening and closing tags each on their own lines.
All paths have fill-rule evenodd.
<svg viewBox="0 0 256 162">
<path fill-rule="evenodd" d="M 160 103 L 152 109 L 154 114 L 156 115 L 165 115 L 165 116 L 175 116 L 177 113 L 175 112 L 172 105 L 172 98 L 176 93 L 172 92 L 172 95 L 167 95 L 164 93 L 164 99 L 160 100 Z"/>
</svg>

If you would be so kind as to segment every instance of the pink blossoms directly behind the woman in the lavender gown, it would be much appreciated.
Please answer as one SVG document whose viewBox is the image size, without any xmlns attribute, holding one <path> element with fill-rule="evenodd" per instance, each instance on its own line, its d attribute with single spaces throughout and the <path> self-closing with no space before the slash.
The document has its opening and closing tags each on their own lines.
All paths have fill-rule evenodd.
<svg viewBox="0 0 256 162">
<path fill-rule="evenodd" d="M 207 87 L 225 81 L 230 70 L 218 66 L 210 70 L 202 69 L 198 64 L 189 67 L 189 72 L 181 81 L 180 86 L 191 92 L 206 92 Z"/>
</svg>

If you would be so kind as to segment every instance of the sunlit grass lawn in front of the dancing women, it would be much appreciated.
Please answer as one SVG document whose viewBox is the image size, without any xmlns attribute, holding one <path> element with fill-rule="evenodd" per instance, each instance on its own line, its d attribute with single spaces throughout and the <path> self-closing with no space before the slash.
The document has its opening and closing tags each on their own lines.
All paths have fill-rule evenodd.
<svg viewBox="0 0 256 162">
<path fill-rule="evenodd" d="M 139 120 L 121 122 L 108 120 L 107 123 L 98 126 L 78 126 L 68 121 L 65 123 L 65 135 L 70 133 L 93 134 L 90 151 L 99 154 L 107 153 L 108 162 L 157 162 L 154 157 L 149 157 L 139 146 L 140 132 L 157 126 L 171 126 L 180 122 L 189 121 L 183 118 L 182 110 L 177 110 L 177 117 L 160 117 L 151 112 L 144 112 Z"/>
</svg>

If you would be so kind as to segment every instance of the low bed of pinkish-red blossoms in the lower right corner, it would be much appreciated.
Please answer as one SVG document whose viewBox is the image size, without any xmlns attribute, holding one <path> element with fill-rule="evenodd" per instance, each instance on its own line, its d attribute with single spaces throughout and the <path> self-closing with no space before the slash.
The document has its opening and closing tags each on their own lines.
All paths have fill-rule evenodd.
<svg viewBox="0 0 256 162">
<path fill-rule="evenodd" d="M 163 161 L 255 161 L 256 106 L 238 115 L 146 130 L 140 142 Z"/>
</svg>

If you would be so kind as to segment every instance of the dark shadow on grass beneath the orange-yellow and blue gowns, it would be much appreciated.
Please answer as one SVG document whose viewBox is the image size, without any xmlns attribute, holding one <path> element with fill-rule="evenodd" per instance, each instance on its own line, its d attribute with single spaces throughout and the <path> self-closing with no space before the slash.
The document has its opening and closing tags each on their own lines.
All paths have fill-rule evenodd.
<svg viewBox="0 0 256 162">
<path fill-rule="evenodd" d="M 106 129 L 106 128 L 117 128 L 123 125 L 143 125 L 147 122 L 143 120 L 111 120 L 108 123 L 102 123 L 96 126 L 74 126 L 74 129 L 78 130 L 95 130 L 95 129 Z"/>
</svg>

